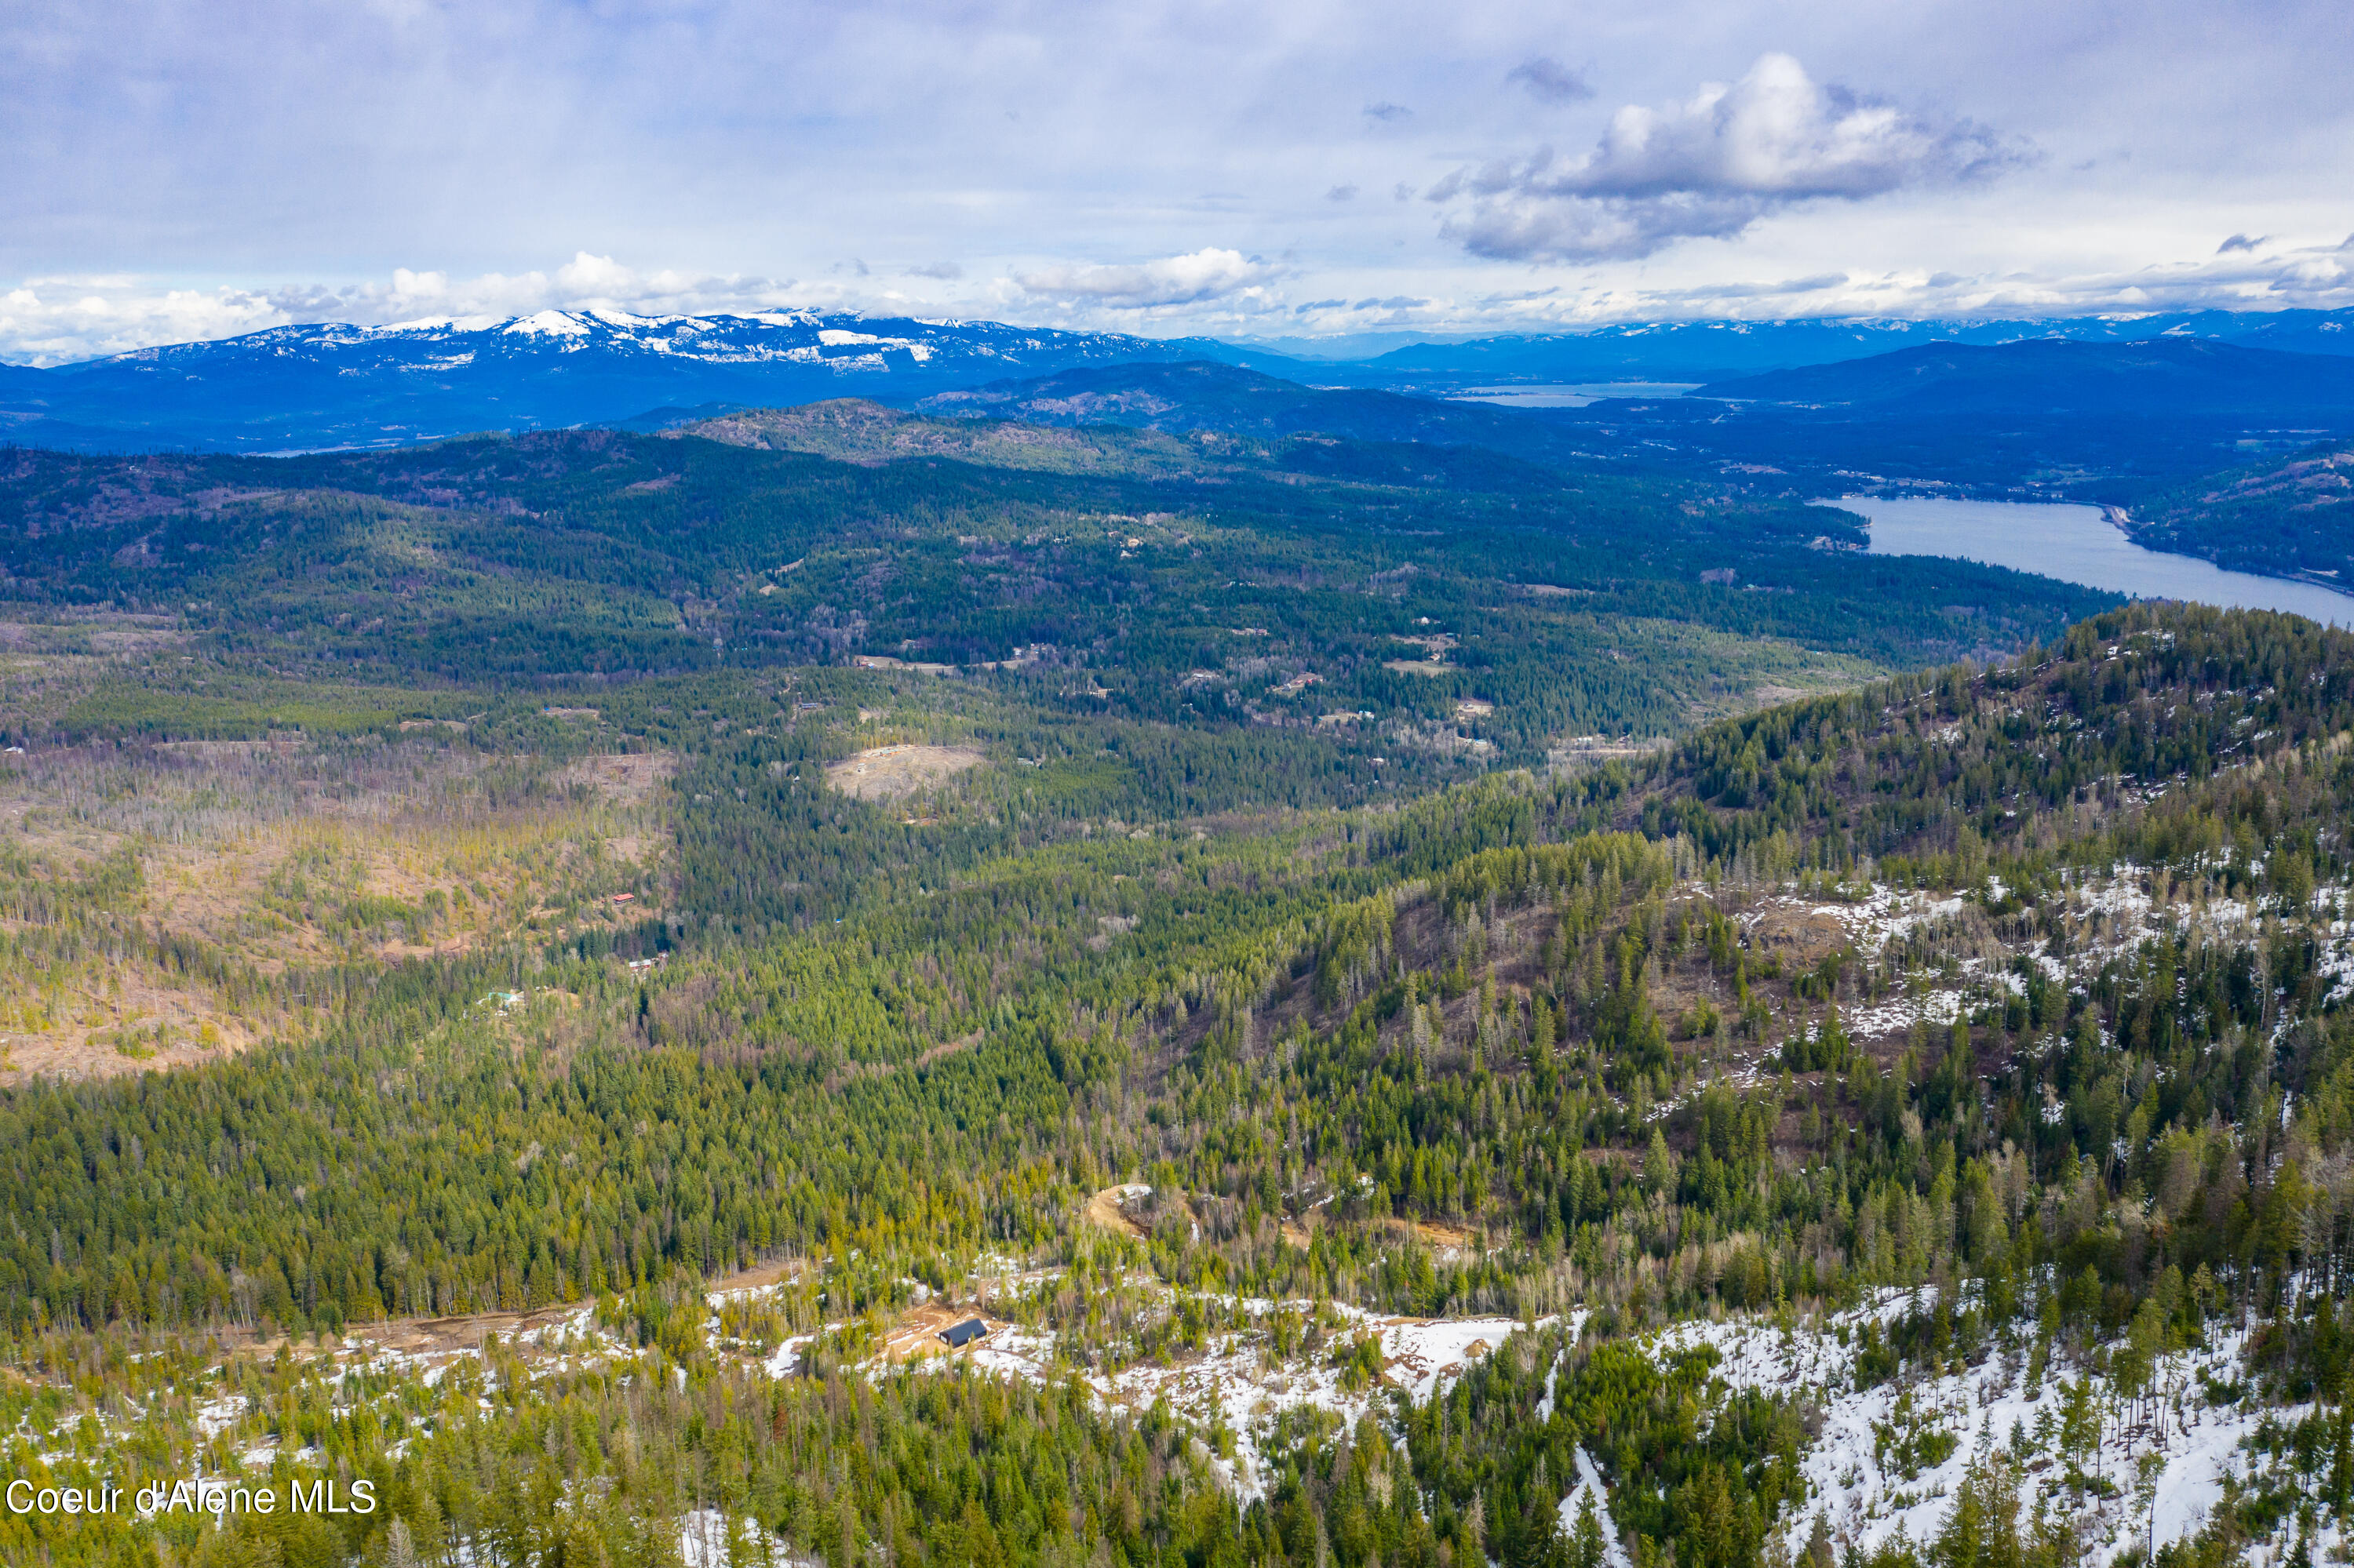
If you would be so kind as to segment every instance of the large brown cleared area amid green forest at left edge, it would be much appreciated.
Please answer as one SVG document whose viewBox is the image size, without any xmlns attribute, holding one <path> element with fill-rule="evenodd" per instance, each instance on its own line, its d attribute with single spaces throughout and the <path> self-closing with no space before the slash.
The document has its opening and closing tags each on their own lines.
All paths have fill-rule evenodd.
<svg viewBox="0 0 2354 1568">
<path fill-rule="evenodd" d="M 669 756 L 570 768 L 440 737 L 49 749 L 0 770 L 0 1083 L 186 1067 L 315 1024 L 299 975 L 661 909 Z M 614 892 L 629 892 L 614 902 Z M 212 982 L 75 930 L 191 939 Z M 38 951 L 64 942 L 71 958 Z M 254 1001 L 257 996 L 266 1001 Z"/>
</svg>

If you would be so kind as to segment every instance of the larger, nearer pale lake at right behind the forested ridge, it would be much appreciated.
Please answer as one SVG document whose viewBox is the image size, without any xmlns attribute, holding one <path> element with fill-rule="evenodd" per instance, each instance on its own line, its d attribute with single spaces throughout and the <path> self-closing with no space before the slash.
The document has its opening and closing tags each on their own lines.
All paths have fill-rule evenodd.
<svg viewBox="0 0 2354 1568">
<path fill-rule="evenodd" d="M 1949 556 L 2039 572 L 2135 598 L 2187 598 L 2234 610 L 2288 610 L 2354 626 L 2354 596 L 2309 582 L 2225 572 L 2196 556 L 2144 551 L 2100 506 L 2053 501 L 1841 499 L 1871 523 L 1874 556 Z"/>
</svg>

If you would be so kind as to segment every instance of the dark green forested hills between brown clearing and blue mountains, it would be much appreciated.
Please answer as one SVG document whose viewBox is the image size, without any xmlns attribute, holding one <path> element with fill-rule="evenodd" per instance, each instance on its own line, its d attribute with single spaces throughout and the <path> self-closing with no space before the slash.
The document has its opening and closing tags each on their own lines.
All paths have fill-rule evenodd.
<svg viewBox="0 0 2354 1568">
<path fill-rule="evenodd" d="M 1521 758 L 1547 737 L 1664 735 L 1758 685 L 1820 680 L 1773 678 L 1758 657 L 1789 676 L 1921 664 L 2107 603 L 1966 563 L 1810 549 L 1860 539 L 1822 509 L 1485 450 L 1113 431 L 1073 445 L 1003 424 L 975 426 L 982 447 L 953 445 L 960 424 L 864 419 L 925 428 L 927 445 L 852 452 L 838 419 L 826 443 L 857 461 L 763 450 L 777 421 L 763 445 L 730 445 L 746 417 L 713 426 L 727 440 L 16 450 L 0 459 L 0 567 L 45 612 L 165 617 L 155 629 L 308 678 L 558 690 L 862 655 L 1003 666 L 1024 650 L 1057 692 L 1085 669 L 1088 690 L 1156 720 L 1191 706 L 1201 723 L 1436 723 L 1481 699 Z M 1010 466 L 1017 447 L 1064 457 Z M 1568 666 L 1624 695 L 1563 706 L 1540 673 Z M 1271 704 L 1285 683 L 1288 706 Z"/>
</svg>

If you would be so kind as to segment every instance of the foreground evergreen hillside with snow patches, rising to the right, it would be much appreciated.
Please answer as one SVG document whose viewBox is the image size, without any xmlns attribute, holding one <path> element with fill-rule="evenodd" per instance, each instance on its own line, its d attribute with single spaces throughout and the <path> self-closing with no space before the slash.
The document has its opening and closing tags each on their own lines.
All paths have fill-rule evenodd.
<svg viewBox="0 0 2354 1568">
<path fill-rule="evenodd" d="M 683 885 L 887 831 L 803 803 L 803 699 L 734 702 L 671 730 Z M 725 951 L 403 965 L 315 1043 L 0 1097 L 24 1366 L 122 1351 L 82 1436 L 26 1420 L 59 1474 L 370 1479 L 217 1533 L 322 1563 L 709 1511 L 843 1568 L 2060 1568 L 2135 1483 L 2206 1500 L 2175 1563 L 2326 1544 L 2349 725 L 2354 638 L 2135 607 L 1653 758 L 916 862 Z M 904 1370 L 965 1314 L 984 1356 Z M 1429 1318 L 1481 1347 L 1410 1361 Z M 221 1361 L 278 1330 L 348 1344 Z"/>
</svg>

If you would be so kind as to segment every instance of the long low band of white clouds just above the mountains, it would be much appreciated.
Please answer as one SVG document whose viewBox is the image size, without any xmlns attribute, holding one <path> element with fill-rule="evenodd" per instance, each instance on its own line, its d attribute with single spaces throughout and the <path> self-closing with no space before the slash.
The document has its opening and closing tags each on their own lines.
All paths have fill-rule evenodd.
<svg viewBox="0 0 2354 1568">
<path fill-rule="evenodd" d="M 1890 224 L 1900 219 L 1890 217 Z M 388 283 L 353 287 L 177 290 L 153 278 L 82 275 L 0 283 L 0 363 L 61 365 L 151 344 L 233 337 L 287 323 L 393 323 L 431 315 L 527 315 L 541 308 L 716 313 L 779 306 L 890 315 L 984 315 L 1055 327 L 1226 332 L 1248 337 L 1281 313 L 1314 332 L 1412 325 L 1464 332 L 1556 332 L 1615 320 L 1770 320 L 1784 315 L 2072 315 L 2093 311 L 2189 311 L 2354 306 L 2354 245 L 2338 235 L 2208 254 L 2213 228 L 2192 235 L 2180 261 L 2133 268 L 2020 271 L 1980 259 L 1961 271 L 1881 259 L 1841 271 L 1742 278 L 1721 264 L 1601 273 L 1582 285 L 1492 290 L 1483 264 L 1452 273 L 1304 268 L 1208 250 L 1137 266 L 993 271 L 953 301 L 909 299 L 855 280 L 772 283 L 680 268 L 636 271 L 607 257 L 574 257 L 551 271 L 447 278 L 395 268 Z M 1900 252 L 1904 247 L 1897 247 Z M 927 268 L 904 275 L 918 278 Z M 1391 292 L 1398 283 L 1417 292 Z M 1292 306 L 1281 283 L 1311 285 Z M 1328 292 L 1337 290 L 1337 292 Z"/>
</svg>

